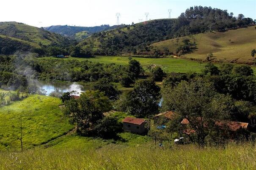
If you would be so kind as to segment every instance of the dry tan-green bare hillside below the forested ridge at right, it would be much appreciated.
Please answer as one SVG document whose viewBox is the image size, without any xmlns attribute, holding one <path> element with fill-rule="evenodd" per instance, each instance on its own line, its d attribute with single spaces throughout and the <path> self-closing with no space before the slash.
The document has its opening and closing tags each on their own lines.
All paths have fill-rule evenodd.
<svg viewBox="0 0 256 170">
<path fill-rule="evenodd" d="M 153 43 L 151 46 L 160 50 L 167 47 L 176 53 L 176 48 L 182 45 L 184 39 L 190 39 L 191 42 L 195 41 L 197 44 L 195 51 L 182 56 L 187 58 L 205 59 L 207 54 L 212 53 L 217 60 L 246 63 L 252 62 L 250 52 L 256 49 L 256 30 L 254 27 L 196 34 Z"/>
</svg>

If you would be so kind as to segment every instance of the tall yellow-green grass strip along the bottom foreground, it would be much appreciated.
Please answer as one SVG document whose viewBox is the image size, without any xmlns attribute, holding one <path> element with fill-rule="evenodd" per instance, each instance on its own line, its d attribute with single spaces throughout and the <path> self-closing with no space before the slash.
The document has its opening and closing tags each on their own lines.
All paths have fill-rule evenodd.
<svg viewBox="0 0 256 170">
<path fill-rule="evenodd" d="M 229 144 L 225 148 L 194 145 L 170 149 L 109 144 L 97 149 L 36 149 L 0 153 L 0 169 L 255 169 L 256 146 Z"/>
</svg>

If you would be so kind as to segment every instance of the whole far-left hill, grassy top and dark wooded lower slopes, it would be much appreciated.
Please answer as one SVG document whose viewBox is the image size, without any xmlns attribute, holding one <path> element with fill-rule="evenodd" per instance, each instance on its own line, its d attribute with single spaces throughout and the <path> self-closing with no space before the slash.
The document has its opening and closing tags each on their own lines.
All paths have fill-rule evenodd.
<svg viewBox="0 0 256 170">
<path fill-rule="evenodd" d="M 41 55 L 66 54 L 72 41 L 59 34 L 18 22 L 0 22 L 0 54 L 30 51 Z"/>
</svg>

